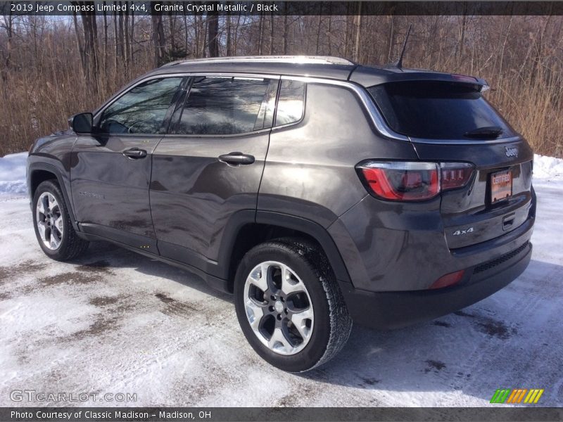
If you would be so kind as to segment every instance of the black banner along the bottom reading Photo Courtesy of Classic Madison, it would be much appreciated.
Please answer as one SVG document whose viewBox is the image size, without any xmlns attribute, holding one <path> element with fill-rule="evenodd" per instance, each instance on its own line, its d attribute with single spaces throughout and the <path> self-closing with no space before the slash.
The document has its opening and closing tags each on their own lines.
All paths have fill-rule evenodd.
<svg viewBox="0 0 563 422">
<path fill-rule="evenodd" d="M 549 407 L 4 407 L 3 422 L 110 421 L 562 421 L 563 409 Z"/>
</svg>

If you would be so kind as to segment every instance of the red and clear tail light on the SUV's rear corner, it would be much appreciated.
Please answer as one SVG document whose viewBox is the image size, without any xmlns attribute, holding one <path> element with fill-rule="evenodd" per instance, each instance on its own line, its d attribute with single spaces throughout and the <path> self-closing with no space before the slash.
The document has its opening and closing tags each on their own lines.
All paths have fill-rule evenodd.
<svg viewBox="0 0 563 422">
<path fill-rule="evenodd" d="M 419 201 L 462 188 L 471 179 L 467 162 L 367 161 L 357 167 L 369 193 L 385 200 Z"/>
</svg>

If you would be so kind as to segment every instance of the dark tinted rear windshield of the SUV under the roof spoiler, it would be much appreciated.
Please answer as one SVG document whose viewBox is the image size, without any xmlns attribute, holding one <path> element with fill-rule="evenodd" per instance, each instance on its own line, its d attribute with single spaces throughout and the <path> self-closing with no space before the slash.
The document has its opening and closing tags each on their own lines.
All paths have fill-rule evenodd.
<svg viewBox="0 0 563 422">
<path fill-rule="evenodd" d="M 389 127 L 399 134 L 424 139 L 475 139 L 471 132 L 497 127 L 502 132 L 490 138 L 513 136 L 507 122 L 476 87 L 479 86 L 413 81 L 390 82 L 368 91 Z"/>
</svg>

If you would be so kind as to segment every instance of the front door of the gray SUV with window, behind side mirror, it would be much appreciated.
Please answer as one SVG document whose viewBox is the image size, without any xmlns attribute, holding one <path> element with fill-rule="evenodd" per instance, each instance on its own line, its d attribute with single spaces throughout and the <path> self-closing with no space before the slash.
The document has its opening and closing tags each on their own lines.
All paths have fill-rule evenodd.
<svg viewBox="0 0 563 422">
<path fill-rule="evenodd" d="M 94 119 L 72 149 L 70 184 L 81 229 L 158 253 L 148 202 L 151 155 L 167 130 L 182 77 L 135 85 Z"/>
</svg>

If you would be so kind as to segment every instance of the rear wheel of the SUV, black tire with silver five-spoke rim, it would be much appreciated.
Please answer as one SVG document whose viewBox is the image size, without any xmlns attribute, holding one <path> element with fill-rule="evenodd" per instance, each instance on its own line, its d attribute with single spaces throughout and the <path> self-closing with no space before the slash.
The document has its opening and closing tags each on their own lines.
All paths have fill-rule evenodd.
<svg viewBox="0 0 563 422">
<path fill-rule="evenodd" d="M 298 238 L 248 251 L 236 271 L 234 302 L 248 343 L 283 371 L 304 372 L 328 362 L 352 328 L 327 257 Z"/>
</svg>

